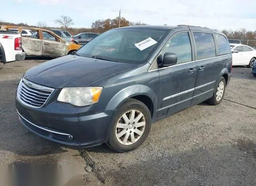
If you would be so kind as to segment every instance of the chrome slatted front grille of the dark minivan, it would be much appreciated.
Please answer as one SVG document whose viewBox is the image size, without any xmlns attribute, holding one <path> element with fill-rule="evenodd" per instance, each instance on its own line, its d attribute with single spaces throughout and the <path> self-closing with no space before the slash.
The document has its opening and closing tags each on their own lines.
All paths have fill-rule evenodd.
<svg viewBox="0 0 256 186">
<path fill-rule="evenodd" d="M 17 98 L 23 105 L 40 108 L 50 97 L 52 91 L 54 89 L 50 87 L 44 87 L 22 78 L 18 86 Z"/>
</svg>

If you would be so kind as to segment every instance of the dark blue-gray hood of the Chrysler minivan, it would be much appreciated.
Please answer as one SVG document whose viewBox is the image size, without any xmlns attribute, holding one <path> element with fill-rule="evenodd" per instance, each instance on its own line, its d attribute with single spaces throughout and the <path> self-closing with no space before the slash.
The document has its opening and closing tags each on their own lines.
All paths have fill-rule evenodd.
<svg viewBox="0 0 256 186">
<path fill-rule="evenodd" d="M 132 67 L 133 64 L 66 55 L 29 69 L 24 77 L 56 89 L 84 87 Z"/>
</svg>

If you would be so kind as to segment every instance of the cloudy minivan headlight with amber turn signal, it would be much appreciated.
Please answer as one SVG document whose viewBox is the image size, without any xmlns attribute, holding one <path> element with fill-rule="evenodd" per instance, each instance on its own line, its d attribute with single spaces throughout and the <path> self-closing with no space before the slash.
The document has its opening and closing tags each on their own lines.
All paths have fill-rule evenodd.
<svg viewBox="0 0 256 186">
<path fill-rule="evenodd" d="M 82 107 L 98 103 L 103 87 L 63 88 L 57 101 Z"/>
</svg>

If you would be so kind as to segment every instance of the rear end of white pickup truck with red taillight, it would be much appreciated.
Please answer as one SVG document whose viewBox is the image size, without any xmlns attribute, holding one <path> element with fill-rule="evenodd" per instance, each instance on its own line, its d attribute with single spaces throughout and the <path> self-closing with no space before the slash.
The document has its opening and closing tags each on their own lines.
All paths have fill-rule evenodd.
<svg viewBox="0 0 256 186">
<path fill-rule="evenodd" d="M 24 59 L 25 52 L 22 52 L 22 38 L 20 34 L 13 31 L 0 30 L 0 62 L 8 63 Z"/>
</svg>

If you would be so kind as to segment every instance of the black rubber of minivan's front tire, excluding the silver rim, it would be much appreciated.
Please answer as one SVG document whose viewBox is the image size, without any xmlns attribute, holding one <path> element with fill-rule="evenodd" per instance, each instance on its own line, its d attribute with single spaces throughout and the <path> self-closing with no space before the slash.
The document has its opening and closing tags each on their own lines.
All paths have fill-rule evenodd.
<svg viewBox="0 0 256 186">
<path fill-rule="evenodd" d="M 118 120 L 120 119 L 120 117 L 126 113 L 129 110 L 132 109 L 136 109 L 140 112 L 142 112 L 142 114 L 145 117 L 145 121 L 146 121 L 146 126 L 145 126 L 145 130 L 144 133 L 142 134 L 142 136 L 140 137 L 140 139 L 138 139 L 136 142 L 134 142 L 134 144 L 130 144 L 130 145 L 124 145 L 121 144 L 117 139 L 116 139 L 116 124 L 118 122 Z M 123 105 L 121 105 L 118 110 L 116 111 L 116 113 L 114 113 L 111 125 L 110 125 L 110 131 L 109 131 L 109 135 L 108 135 L 108 145 L 113 149 L 116 150 L 117 152 L 127 152 L 130 150 L 134 150 L 136 148 L 138 148 L 148 137 L 148 134 L 150 132 L 150 128 L 151 128 L 151 114 L 150 111 L 148 110 L 148 107 L 146 105 L 144 105 L 144 103 L 137 101 L 135 99 L 130 99 L 128 101 L 126 101 Z"/>
</svg>

